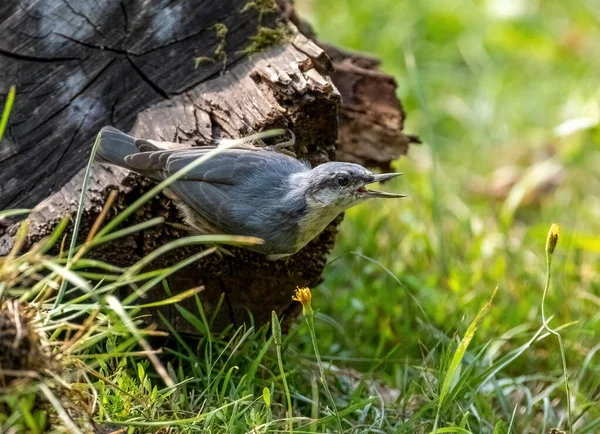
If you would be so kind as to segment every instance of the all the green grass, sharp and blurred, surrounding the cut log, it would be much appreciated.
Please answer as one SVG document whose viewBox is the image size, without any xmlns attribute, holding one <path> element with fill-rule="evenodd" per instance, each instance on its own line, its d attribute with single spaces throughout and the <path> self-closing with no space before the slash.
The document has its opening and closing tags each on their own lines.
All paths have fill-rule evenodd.
<svg viewBox="0 0 600 434">
<path fill-rule="evenodd" d="M 130 432 L 598 432 L 597 8 L 297 4 L 322 39 L 378 55 L 397 77 L 406 130 L 425 144 L 396 163 L 405 176 L 386 189 L 409 197 L 346 214 L 326 280 L 312 291 L 314 317 L 277 341 L 251 326 L 211 333 L 192 291 L 184 296 L 196 309 L 177 307 L 200 339 L 162 318 L 171 342 L 159 345 L 165 337 L 141 328 L 134 300 L 121 309 L 111 295 L 168 270 L 96 264 L 108 278 L 95 279 L 48 255 L 60 228 L 37 250 L 15 252 L 2 262 L 0 294 L 21 303 L 5 302 L 4 317 L 42 345 L 30 369 L 2 371 L 13 384 L 0 383 L 2 429 L 85 430 L 93 419 Z M 498 168 L 540 160 L 541 175 L 503 194 L 475 188 Z M 548 163 L 565 174 L 549 194 L 536 187 Z M 560 239 L 546 256 L 553 222 Z M 113 225 L 87 248 L 143 230 Z M 46 268 L 25 285 L 24 273 Z M 63 279 L 99 295 L 74 299 L 66 289 L 54 307 Z"/>
</svg>

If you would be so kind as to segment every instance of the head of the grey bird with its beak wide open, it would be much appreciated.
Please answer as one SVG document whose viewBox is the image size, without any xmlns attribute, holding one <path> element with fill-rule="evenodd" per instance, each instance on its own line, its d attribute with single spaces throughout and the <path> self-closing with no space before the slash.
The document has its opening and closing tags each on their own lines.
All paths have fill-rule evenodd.
<svg viewBox="0 0 600 434">
<path fill-rule="evenodd" d="M 403 194 L 386 193 L 367 188 L 374 182 L 386 181 L 401 173 L 376 174 L 352 163 L 325 163 L 307 173 L 307 198 L 324 207 L 348 209 L 372 198 L 398 198 Z"/>
</svg>

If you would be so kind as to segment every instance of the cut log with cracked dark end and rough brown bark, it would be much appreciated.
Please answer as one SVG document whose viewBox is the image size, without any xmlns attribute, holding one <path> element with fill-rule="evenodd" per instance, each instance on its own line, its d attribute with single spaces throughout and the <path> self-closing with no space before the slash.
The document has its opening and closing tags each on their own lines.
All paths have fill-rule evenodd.
<svg viewBox="0 0 600 434">
<path fill-rule="evenodd" d="M 29 243 L 48 235 L 62 216 L 73 216 L 81 169 L 104 125 L 194 146 L 285 127 L 296 135 L 298 157 L 312 164 L 337 155 L 386 167 L 405 153 L 413 139 L 401 131 L 404 112 L 393 78 L 377 71 L 372 60 L 330 47 L 334 68 L 327 52 L 288 20 L 291 5 L 280 6 L 239 0 L 201 5 L 180 0 L 164 7 L 141 0 L 104 0 L 98 6 L 5 2 L 0 93 L 16 84 L 17 103 L 0 148 L 0 209 L 37 205 L 29 217 Z M 118 191 L 114 216 L 149 186 L 135 174 L 97 165 L 80 239 L 111 190 Z M 156 216 L 180 221 L 161 195 L 127 224 Z M 210 256 L 190 265 L 168 279 L 169 287 L 179 292 L 204 286 L 200 298 L 208 315 L 224 294 L 219 329 L 250 316 L 262 324 L 271 310 L 291 319 L 297 314 L 292 292 L 320 282 L 339 220 L 287 263 L 231 249 L 235 257 Z M 0 234 L 0 255 L 10 250 L 15 230 Z M 161 225 L 91 255 L 125 267 L 183 235 Z M 178 249 L 152 267 L 169 266 L 200 249 Z M 150 297 L 164 298 L 162 288 Z M 178 330 L 190 330 L 174 309 L 163 313 Z"/>
</svg>

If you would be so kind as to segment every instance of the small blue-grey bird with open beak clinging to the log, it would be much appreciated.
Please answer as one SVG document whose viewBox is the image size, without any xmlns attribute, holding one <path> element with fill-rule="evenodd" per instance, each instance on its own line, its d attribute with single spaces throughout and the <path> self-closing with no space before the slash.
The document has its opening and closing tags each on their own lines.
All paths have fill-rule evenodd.
<svg viewBox="0 0 600 434">
<path fill-rule="evenodd" d="M 311 167 L 275 147 L 248 142 L 239 140 L 222 150 L 217 150 L 219 144 L 184 147 L 104 127 L 96 155 L 101 163 L 160 182 L 217 150 L 163 193 L 194 232 L 261 238 L 263 244 L 248 248 L 271 260 L 297 253 L 355 205 L 374 198 L 405 197 L 367 188 L 401 173 L 377 174 L 344 162 Z"/>
</svg>

